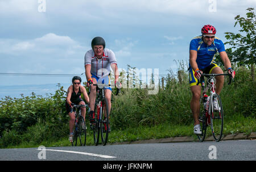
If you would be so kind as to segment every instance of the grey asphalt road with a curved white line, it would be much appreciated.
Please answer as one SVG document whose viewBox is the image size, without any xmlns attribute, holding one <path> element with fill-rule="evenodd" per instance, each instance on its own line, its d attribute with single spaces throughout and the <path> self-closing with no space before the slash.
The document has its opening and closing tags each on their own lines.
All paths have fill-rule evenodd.
<svg viewBox="0 0 256 172">
<path fill-rule="evenodd" d="M 255 161 L 256 140 L 0 149 L 1 161 Z"/>
</svg>

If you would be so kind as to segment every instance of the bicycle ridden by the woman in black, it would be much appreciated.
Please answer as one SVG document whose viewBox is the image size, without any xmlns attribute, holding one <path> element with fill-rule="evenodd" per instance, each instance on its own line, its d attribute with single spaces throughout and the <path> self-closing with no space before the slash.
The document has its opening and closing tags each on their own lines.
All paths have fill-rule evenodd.
<svg viewBox="0 0 256 172">
<path fill-rule="evenodd" d="M 77 145 L 77 137 L 79 137 L 80 145 L 85 146 L 86 144 L 86 124 L 84 117 L 81 115 L 81 108 L 89 107 L 89 105 L 75 105 L 71 104 L 73 108 L 71 113 L 75 112 L 75 131 L 73 132 L 73 141 L 71 142 L 72 146 Z"/>
</svg>

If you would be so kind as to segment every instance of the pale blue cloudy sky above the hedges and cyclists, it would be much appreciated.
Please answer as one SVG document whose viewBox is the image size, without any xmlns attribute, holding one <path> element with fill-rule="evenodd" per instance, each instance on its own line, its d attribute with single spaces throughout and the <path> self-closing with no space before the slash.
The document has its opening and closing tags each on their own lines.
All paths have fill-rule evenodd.
<svg viewBox="0 0 256 172">
<path fill-rule="evenodd" d="M 189 42 L 205 24 L 225 42 L 225 32 L 238 32 L 234 17 L 255 6 L 256 0 L 0 0 L 0 73 L 68 75 L 0 75 L 0 97 L 15 88 L 18 95 L 24 85 L 71 84 L 72 75 L 85 72 L 96 36 L 114 51 L 119 70 L 156 68 L 166 76 L 188 63 Z"/>
</svg>

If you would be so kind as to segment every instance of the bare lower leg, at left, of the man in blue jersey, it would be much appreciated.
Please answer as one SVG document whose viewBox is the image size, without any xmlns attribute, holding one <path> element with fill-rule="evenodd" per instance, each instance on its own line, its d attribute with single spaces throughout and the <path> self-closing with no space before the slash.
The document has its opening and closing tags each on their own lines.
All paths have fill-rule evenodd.
<svg viewBox="0 0 256 172">
<path fill-rule="evenodd" d="M 201 96 L 201 86 L 193 85 L 190 87 L 192 91 L 191 99 L 191 110 L 194 118 L 194 125 L 200 124 L 199 122 L 199 113 L 200 113 L 200 96 Z"/>
</svg>

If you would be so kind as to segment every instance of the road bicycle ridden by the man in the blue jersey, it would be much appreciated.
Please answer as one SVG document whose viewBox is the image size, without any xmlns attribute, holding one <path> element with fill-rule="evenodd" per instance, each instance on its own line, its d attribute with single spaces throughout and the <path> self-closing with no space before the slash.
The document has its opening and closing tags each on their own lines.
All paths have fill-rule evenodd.
<svg viewBox="0 0 256 172">
<path fill-rule="evenodd" d="M 215 92 L 216 89 L 216 76 L 229 76 L 229 83 L 232 82 L 232 76 L 230 74 L 201 74 L 201 78 L 197 82 L 197 85 L 201 83 L 203 94 L 200 98 L 200 126 L 202 134 L 197 135 L 198 139 L 202 142 L 205 139 L 207 133 L 207 127 L 212 129 L 212 135 L 215 141 L 220 141 L 223 131 L 223 107 L 220 96 Z M 205 87 L 205 79 L 207 77 L 207 87 Z M 210 95 L 207 95 L 210 88 Z M 215 104 L 215 108 L 214 108 Z"/>
</svg>

